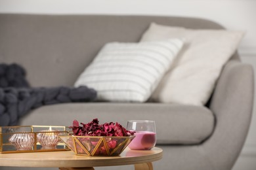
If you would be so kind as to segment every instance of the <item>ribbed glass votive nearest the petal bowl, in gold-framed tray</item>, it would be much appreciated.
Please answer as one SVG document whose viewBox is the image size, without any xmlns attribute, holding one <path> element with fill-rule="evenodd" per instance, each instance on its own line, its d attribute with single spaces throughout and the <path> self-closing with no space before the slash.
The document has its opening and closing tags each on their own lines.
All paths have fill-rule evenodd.
<svg viewBox="0 0 256 170">
<path fill-rule="evenodd" d="M 60 143 L 58 131 L 43 130 L 37 133 L 37 141 L 42 145 L 41 149 L 56 149 L 57 144 Z"/>
</svg>

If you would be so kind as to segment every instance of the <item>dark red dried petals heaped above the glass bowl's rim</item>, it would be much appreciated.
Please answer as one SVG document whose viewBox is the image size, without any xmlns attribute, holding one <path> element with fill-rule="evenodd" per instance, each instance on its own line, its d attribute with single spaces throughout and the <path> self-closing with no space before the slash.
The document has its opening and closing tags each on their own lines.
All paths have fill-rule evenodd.
<svg viewBox="0 0 256 170">
<path fill-rule="evenodd" d="M 92 122 L 87 124 L 80 123 L 82 126 L 79 126 L 77 120 L 73 121 L 72 131 L 74 135 L 77 136 L 108 136 L 108 137 L 129 137 L 134 135 L 135 132 L 127 131 L 125 127 L 117 123 L 104 123 L 98 124 L 98 118 L 93 119 Z"/>
</svg>

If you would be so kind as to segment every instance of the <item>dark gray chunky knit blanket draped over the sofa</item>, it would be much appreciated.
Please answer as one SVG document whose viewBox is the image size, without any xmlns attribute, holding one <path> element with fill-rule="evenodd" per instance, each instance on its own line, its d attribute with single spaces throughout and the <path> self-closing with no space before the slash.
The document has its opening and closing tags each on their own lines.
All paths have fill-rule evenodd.
<svg viewBox="0 0 256 170">
<path fill-rule="evenodd" d="M 0 126 L 16 126 L 22 116 L 43 105 L 89 102 L 96 98 L 96 91 L 87 86 L 32 88 L 25 76 L 20 65 L 0 64 Z"/>
</svg>

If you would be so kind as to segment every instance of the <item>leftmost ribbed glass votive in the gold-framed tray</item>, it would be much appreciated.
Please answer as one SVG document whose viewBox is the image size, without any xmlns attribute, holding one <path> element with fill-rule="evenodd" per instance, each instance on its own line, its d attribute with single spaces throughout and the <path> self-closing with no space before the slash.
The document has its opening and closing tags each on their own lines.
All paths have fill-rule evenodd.
<svg viewBox="0 0 256 170">
<path fill-rule="evenodd" d="M 32 150 L 35 142 L 33 133 L 14 133 L 9 142 L 15 146 L 17 150 Z"/>
</svg>

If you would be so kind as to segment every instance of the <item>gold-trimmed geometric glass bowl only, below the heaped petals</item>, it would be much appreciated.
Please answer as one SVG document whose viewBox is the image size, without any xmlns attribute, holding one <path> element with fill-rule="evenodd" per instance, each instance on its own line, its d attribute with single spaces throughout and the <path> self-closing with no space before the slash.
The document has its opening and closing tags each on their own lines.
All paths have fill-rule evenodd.
<svg viewBox="0 0 256 170">
<path fill-rule="evenodd" d="M 135 138 L 134 135 L 130 137 L 59 135 L 59 137 L 75 154 L 81 156 L 117 156 Z"/>
</svg>

